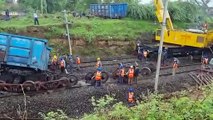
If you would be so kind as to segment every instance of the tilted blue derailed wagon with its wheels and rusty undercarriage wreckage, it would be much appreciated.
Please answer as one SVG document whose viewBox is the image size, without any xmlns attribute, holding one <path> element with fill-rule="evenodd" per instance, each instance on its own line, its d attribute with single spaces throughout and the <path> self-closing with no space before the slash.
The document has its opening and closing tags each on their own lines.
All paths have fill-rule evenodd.
<svg viewBox="0 0 213 120">
<path fill-rule="evenodd" d="M 71 82 L 68 75 L 48 70 L 50 51 L 47 40 L 0 33 L 0 90 L 18 92 L 21 85 L 49 89 Z"/>
</svg>

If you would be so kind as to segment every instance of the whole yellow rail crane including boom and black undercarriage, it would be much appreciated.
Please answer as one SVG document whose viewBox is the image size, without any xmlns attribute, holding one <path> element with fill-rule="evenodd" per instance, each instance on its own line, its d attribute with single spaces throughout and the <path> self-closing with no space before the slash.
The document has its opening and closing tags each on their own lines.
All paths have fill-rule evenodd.
<svg viewBox="0 0 213 120">
<path fill-rule="evenodd" d="M 162 0 L 154 0 L 156 16 L 159 23 L 163 22 L 164 5 Z M 168 56 L 200 56 L 203 53 L 213 53 L 213 31 L 197 29 L 175 30 L 169 12 L 166 12 L 166 29 L 164 31 L 164 49 L 167 49 Z M 158 55 L 158 44 L 161 30 L 157 30 L 154 36 L 155 45 L 140 45 L 140 51 L 147 49 L 156 57 Z M 153 44 L 154 44 L 153 43 Z"/>
</svg>

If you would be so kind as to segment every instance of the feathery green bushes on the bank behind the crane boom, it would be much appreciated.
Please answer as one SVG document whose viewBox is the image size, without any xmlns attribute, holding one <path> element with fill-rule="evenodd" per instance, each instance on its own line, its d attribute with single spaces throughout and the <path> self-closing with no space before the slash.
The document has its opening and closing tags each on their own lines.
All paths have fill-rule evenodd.
<svg viewBox="0 0 213 120">
<path fill-rule="evenodd" d="M 197 4 L 190 2 L 170 2 L 168 11 L 173 21 L 198 22 L 199 19 L 206 18 L 205 11 Z M 138 0 L 132 0 L 129 2 L 128 16 L 134 19 L 154 20 L 156 19 L 155 6 L 142 5 Z"/>
</svg>

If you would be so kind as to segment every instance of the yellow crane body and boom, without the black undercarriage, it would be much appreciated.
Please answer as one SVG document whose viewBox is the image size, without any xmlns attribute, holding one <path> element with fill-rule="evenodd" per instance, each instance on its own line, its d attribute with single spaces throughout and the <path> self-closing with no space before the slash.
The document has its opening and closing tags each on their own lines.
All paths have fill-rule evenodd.
<svg viewBox="0 0 213 120">
<path fill-rule="evenodd" d="M 156 15 L 160 23 L 163 22 L 162 0 L 155 0 Z M 160 41 L 161 30 L 157 30 L 155 40 Z M 208 48 L 213 43 L 213 32 L 205 33 L 202 30 L 188 29 L 187 31 L 175 30 L 167 11 L 166 30 L 164 31 L 164 43 L 178 46 Z"/>
</svg>

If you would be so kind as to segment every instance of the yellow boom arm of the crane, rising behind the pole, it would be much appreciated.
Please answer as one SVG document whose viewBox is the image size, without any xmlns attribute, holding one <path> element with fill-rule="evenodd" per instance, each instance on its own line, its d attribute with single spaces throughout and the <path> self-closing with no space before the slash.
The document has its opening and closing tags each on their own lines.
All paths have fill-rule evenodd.
<svg viewBox="0 0 213 120">
<path fill-rule="evenodd" d="M 163 22 L 163 9 L 164 9 L 164 5 L 163 5 L 162 0 L 155 0 L 155 7 L 156 7 L 155 13 L 156 13 L 156 16 L 158 18 L 158 21 L 160 23 L 162 23 Z M 169 29 L 169 30 L 174 29 L 168 10 L 167 10 L 167 16 L 166 16 L 166 25 L 167 25 L 166 26 L 167 29 Z"/>
</svg>

